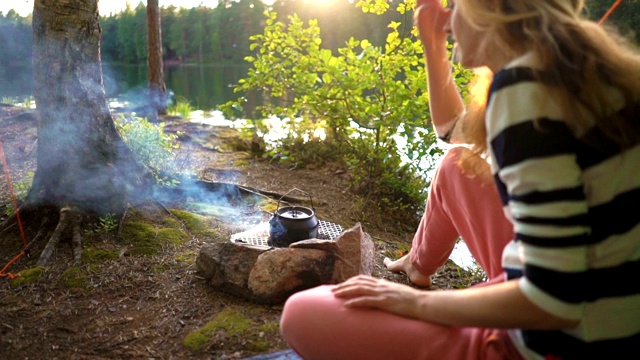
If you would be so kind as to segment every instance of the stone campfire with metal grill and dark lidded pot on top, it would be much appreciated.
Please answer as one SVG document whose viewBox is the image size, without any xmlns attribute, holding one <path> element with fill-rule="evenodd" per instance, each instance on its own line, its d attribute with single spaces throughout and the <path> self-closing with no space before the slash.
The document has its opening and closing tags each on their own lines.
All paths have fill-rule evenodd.
<svg viewBox="0 0 640 360">
<path fill-rule="evenodd" d="M 370 275 L 371 237 L 360 224 L 344 230 L 318 219 L 309 198 L 311 208 L 278 202 L 269 221 L 231 235 L 229 242 L 205 244 L 196 260 L 201 275 L 221 291 L 268 304 L 302 289 Z"/>
</svg>

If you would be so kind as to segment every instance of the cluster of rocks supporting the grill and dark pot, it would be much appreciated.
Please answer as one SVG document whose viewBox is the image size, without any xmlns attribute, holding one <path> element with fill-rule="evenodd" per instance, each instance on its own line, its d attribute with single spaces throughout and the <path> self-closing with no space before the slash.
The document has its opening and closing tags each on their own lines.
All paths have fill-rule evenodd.
<svg viewBox="0 0 640 360">
<path fill-rule="evenodd" d="M 207 244 L 196 260 L 208 283 L 221 291 L 267 304 L 322 284 L 371 275 L 375 248 L 360 224 L 334 240 L 308 239 L 288 248 Z"/>
</svg>

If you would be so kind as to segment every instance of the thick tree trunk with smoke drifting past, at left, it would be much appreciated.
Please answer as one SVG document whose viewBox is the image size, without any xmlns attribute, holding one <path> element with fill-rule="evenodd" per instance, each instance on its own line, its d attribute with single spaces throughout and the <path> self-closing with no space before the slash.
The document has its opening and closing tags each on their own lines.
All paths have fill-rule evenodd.
<svg viewBox="0 0 640 360">
<path fill-rule="evenodd" d="M 38 149 L 28 204 L 118 212 L 147 179 L 109 111 L 100 33 L 98 0 L 35 1 Z"/>
</svg>

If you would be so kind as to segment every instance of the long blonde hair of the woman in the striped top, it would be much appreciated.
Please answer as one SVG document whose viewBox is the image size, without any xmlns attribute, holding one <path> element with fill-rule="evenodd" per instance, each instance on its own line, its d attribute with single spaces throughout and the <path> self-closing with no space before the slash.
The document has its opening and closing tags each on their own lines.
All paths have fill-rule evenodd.
<svg viewBox="0 0 640 360">
<path fill-rule="evenodd" d="M 504 44 L 508 56 L 535 53 L 541 62 L 535 75 L 561 99 L 572 129 L 596 126 L 620 148 L 640 141 L 640 52 L 613 28 L 584 18 L 583 0 L 457 0 L 456 6 L 485 39 Z M 487 76 L 479 74 L 478 79 Z M 621 112 L 605 96 L 607 88 L 623 95 Z M 488 85 L 475 81 L 471 92 L 484 98 L 469 103 L 465 138 L 476 154 L 486 155 Z M 586 123 L 580 107 L 595 122 Z"/>
</svg>

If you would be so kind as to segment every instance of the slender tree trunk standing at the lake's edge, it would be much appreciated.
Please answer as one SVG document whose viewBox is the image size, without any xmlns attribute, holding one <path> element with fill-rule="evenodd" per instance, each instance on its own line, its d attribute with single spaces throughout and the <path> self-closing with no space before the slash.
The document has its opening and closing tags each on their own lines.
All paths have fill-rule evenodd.
<svg viewBox="0 0 640 360">
<path fill-rule="evenodd" d="M 162 69 L 162 29 L 158 0 L 147 0 L 147 42 L 149 48 L 149 101 L 157 114 L 167 113 L 167 88 Z"/>
</svg>

